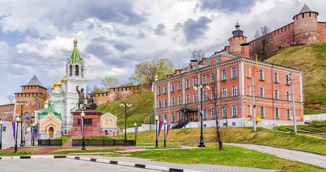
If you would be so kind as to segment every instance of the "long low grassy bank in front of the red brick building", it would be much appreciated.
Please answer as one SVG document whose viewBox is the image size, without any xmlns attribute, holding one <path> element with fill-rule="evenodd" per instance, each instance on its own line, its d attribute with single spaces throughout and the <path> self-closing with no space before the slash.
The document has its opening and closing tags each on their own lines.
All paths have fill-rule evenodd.
<svg viewBox="0 0 326 172">
<path fill-rule="evenodd" d="M 260 127 L 257 127 L 256 132 L 253 131 L 252 127 L 221 127 L 221 134 L 223 142 L 265 144 L 326 153 L 326 139 L 294 135 L 293 133 L 268 130 Z M 213 128 L 204 128 L 203 135 L 204 142 L 215 142 L 216 138 Z M 155 130 L 139 132 L 137 143 L 155 142 L 155 136 Z M 116 138 L 123 139 L 124 134 L 120 134 Z M 134 139 L 134 133 L 127 133 L 127 139 Z M 160 133 L 158 141 L 164 141 L 163 132 Z M 167 141 L 199 142 L 200 128 L 170 130 Z"/>
</svg>

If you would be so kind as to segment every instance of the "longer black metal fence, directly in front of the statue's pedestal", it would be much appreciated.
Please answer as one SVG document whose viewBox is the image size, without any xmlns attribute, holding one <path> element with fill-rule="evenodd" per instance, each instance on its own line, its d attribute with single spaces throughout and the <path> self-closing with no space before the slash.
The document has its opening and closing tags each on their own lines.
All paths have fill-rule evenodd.
<svg viewBox="0 0 326 172">
<path fill-rule="evenodd" d="M 83 139 L 72 139 L 73 147 L 83 146 Z M 118 140 L 118 139 L 85 139 L 86 147 L 116 147 L 116 146 L 134 146 L 134 140 Z"/>
</svg>

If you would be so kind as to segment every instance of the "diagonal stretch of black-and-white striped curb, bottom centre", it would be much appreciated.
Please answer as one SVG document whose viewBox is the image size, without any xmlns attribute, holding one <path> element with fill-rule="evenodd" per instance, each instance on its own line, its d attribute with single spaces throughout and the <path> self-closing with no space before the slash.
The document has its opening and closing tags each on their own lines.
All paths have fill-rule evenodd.
<svg viewBox="0 0 326 172">
<path fill-rule="evenodd" d="M 78 157 L 78 156 L 70 156 L 70 155 L 67 155 L 66 158 L 85 160 L 85 161 L 93 161 L 93 162 L 101 162 L 101 163 L 108 163 L 108 164 L 116 164 L 116 165 L 133 166 L 133 167 L 146 168 L 146 169 L 156 169 L 156 170 L 161 170 L 161 171 L 199 172 L 196 170 L 177 169 L 177 168 L 170 168 L 170 167 L 144 165 L 144 164 L 136 164 L 136 163 L 130 163 L 130 162 L 111 161 L 111 160 L 106 160 L 106 159 L 86 158 L 86 157 Z"/>
</svg>

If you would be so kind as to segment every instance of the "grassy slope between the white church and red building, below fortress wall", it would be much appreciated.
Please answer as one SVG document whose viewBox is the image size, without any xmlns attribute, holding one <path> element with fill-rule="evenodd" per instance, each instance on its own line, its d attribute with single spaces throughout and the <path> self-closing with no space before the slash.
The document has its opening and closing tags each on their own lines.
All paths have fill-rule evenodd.
<svg viewBox="0 0 326 172">
<path fill-rule="evenodd" d="M 143 95 L 131 97 L 128 99 L 118 100 L 103 105 L 99 105 L 97 110 L 101 112 L 110 112 L 118 117 L 119 126 L 124 126 L 124 107 L 120 106 L 120 102 L 130 102 L 131 107 L 127 107 L 127 124 L 133 123 L 148 123 L 149 122 L 149 113 L 153 109 L 153 100 L 154 94 L 146 93 Z M 151 119 L 153 120 L 153 118 Z"/>
</svg>

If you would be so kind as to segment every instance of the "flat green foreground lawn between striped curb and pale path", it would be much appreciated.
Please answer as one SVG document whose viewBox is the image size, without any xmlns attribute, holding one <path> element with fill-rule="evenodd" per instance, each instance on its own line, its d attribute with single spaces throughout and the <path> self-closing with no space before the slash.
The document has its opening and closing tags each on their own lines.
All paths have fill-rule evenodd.
<svg viewBox="0 0 326 172">
<path fill-rule="evenodd" d="M 141 151 L 126 156 L 184 164 L 205 163 L 288 171 L 324 171 L 324 168 L 314 165 L 227 145 L 223 151 L 219 151 L 218 145 L 207 144 L 206 148 Z"/>
</svg>

